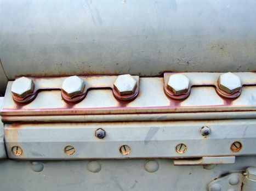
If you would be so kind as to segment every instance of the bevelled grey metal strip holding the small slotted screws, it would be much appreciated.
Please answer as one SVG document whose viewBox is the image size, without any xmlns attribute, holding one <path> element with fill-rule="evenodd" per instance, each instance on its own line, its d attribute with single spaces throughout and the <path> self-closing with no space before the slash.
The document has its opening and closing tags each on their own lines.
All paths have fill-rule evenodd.
<svg viewBox="0 0 256 191">
<path fill-rule="evenodd" d="M 208 136 L 201 134 L 203 126 L 211 128 Z M 255 154 L 255 126 L 256 120 L 12 123 L 5 124 L 4 134 L 13 159 L 200 158 Z M 99 128 L 106 132 L 104 139 L 95 136 Z M 237 141 L 239 150 L 231 147 Z M 179 152 L 179 144 L 186 151 Z M 121 153 L 123 145 L 130 147 L 129 154 Z M 22 154 L 15 154 L 17 146 Z M 75 153 L 66 154 L 66 147 L 75 148 Z"/>
</svg>

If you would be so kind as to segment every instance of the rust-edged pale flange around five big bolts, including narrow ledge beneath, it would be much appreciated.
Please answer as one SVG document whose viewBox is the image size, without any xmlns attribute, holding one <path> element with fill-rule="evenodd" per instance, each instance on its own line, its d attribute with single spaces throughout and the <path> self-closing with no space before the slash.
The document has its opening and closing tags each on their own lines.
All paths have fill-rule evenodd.
<svg viewBox="0 0 256 191">
<path fill-rule="evenodd" d="M 138 76 L 133 76 L 139 80 L 137 82 L 140 93 L 136 99 L 130 102 L 121 102 L 113 96 L 113 83 L 116 76 L 82 77 L 86 88 L 90 91 L 86 98 L 79 103 L 67 103 L 62 99 L 60 87 L 64 77 L 35 78 L 33 80 L 35 91 L 40 91 L 35 100 L 26 105 L 14 102 L 11 92 L 13 82 L 9 82 L 1 109 L 1 117 L 4 122 L 27 120 L 33 122 L 126 121 L 127 118 L 130 118 L 130 121 L 150 120 L 149 118 L 159 121 L 172 118 L 173 120 L 184 120 L 198 114 L 194 119 L 204 117 L 208 120 L 226 116 L 230 118 L 230 113 L 224 114 L 224 112 L 235 112 L 231 118 L 248 118 L 244 115 L 251 115 L 249 118 L 255 118 L 255 73 L 235 73 L 240 76 L 243 85 L 241 96 L 235 100 L 220 97 L 215 91 L 213 84 L 217 83 L 218 76 L 222 73 L 183 74 L 190 78 L 192 87 L 186 100 L 174 100 L 166 96 L 163 87 L 167 73 L 164 74 L 164 77 L 140 77 L 140 80 Z M 190 115 L 187 115 L 188 112 Z M 211 117 L 213 113 L 216 115 Z M 60 117 L 62 115 L 66 117 Z"/>
</svg>

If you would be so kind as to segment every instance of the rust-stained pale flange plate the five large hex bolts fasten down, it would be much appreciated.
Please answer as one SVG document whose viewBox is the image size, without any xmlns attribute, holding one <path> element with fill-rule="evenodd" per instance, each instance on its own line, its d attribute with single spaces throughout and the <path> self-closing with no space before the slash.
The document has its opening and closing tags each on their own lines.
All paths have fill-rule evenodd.
<svg viewBox="0 0 256 191">
<path fill-rule="evenodd" d="M 164 94 L 169 73 L 161 77 L 140 78 L 140 93 L 130 103 L 123 103 L 113 96 L 116 76 L 81 77 L 86 83 L 87 96 L 80 103 L 69 104 L 61 99 L 61 78 L 33 79 L 38 96 L 32 103 L 19 105 L 12 99 L 9 82 L 4 98 L 1 116 L 54 116 L 54 115 L 111 115 L 111 114 L 160 114 L 181 112 L 255 111 L 256 74 L 236 73 L 242 82 L 244 92 L 236 100 L 227 100 L 215 92 L 221 73 L 186 73 L 191 79 L 190 96 L 181 101 L 168 98 Z M 248 76 L 249 78 L 247 78 Z M 104 88 L 104 89 L 103 89 Z M 137 87 L 138 88 L 138 87 Z M 44 91 L 42 91 L 44 90 Z M 50 90 L 50 91 L 49 91 Z M 47 117 L 46 117 L 47 118 Z M 45 119 L 46 119 L 45 118 Z M 5 118 L 6 119 L 6 118 Z M 70 118 L 69 118 L 70 119 Z M 71 120 L 71 119 L 70 119 Z"/>
</svg>

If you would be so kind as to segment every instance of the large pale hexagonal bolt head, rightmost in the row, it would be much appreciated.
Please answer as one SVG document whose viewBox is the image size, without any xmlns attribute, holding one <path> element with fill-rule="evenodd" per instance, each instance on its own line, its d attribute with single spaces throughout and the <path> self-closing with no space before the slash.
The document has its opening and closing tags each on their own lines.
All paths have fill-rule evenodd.
<svg viewBox="0 0 256 191">
<path fill-rule="evenodd" d="M 229 94 L 242 88 L 240 78 L 231 72 L 221 74 L 218 85 L 221 90 Z"/>
</svg>

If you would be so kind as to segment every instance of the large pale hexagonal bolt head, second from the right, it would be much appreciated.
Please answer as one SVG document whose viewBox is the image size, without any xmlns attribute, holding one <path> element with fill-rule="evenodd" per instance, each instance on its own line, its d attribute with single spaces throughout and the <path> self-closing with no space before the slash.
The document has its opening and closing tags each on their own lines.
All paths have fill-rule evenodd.
<svg viewBox="0 0 256 191">
<path fill-rule="evenodd" d="M 190 80 L 183 74 L 170 75 L 167 88 L 175 94 L 187 93 Z"/>
</svg>

